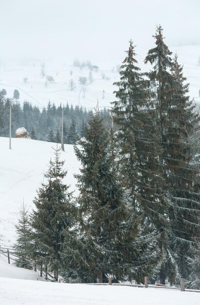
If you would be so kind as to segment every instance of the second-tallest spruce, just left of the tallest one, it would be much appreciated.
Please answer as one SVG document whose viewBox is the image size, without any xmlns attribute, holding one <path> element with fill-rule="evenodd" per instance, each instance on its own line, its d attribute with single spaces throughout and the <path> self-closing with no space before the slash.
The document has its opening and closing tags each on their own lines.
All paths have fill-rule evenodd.
<svg viewBox="0 0 200 305">
<path fill-rule="evenodd" d="M 142 214 L 142 228 L 155 232 L 159 248 L 167 243 L 169 221 L 165 217 L 167 204 L 162 191 L 158 146 L 159 129 L 156 108 L 151 98 L 150 81 L 145 80 L 136 66 L 133 42 L 120 67 L 118 100 L 113 102 L 113 120 L 117 124 L 120 177 L 131 190 L 134 208 Z M 157 246 L 158 246 L 157 245 Z M 159 249 L 154 248 L 159 256 Z M 160 250 L 161 251 L 161 250 Z M 153 276 L 153 269 L 152 269 Z"/>
</svg>

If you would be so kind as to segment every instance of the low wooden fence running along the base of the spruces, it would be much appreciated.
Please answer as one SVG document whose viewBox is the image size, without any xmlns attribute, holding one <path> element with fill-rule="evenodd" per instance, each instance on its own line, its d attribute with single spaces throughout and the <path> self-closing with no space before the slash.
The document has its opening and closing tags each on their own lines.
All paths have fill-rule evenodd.
<svg viewBox="0 0 200 305">
<path fill-rule="evenodd" d="M 13 261 L 16 261 L 17 260 L 17 256 L 15 254 L 15 251 L 14 249 L 12 248 L 3 248 L 0 246 L 0 255 L 4 255 L 8 258 L 8 264 L 10 264 L 10 260 L 13 260 Z M 34 266 L 34 271 L 37 271 L 37 266 L 35 263 L 33 263 L 33 266 Z M 47 272 L 47 267 L 44 268 L 44 271 L 43 271 L 43 268 L 42 266 L 40 266 L 40 268 L 38 268 L 40 270 L 40 277 L 44 276 L 45 277 L 45 280 L 47 281 L 50 281 L 50 282 L 56 282 L 55 281 L 55 277 L 48 273 Z M 60 282 L 60 281 L 59 281 Z M 70 277 L 69 278 L 69 284 L 72 284 L 73 281 L 72 281 L 72 278 Z M 160 284 L 155 284 L 155 285 L 152 285 L 152 284 L 149 284 L 148 283 L 148 277 L 145 276 L 144 277 L 144 285 L 142 284 L 119 284 L 119 283 L 112 283 L 112 278 L 108 278 L 108 283 L 87 283 L 87 284 L 83 284 L 83 285 L 114 285 L 114 286 L 130 286 L 130 287 L 142 287 L 142 288 L 165 288 L 165 289 L 177 289 L 177 290 L 180 290 L 180 291 L 190 291 L 190 292 L 200 292 L 200 290 L 197 290 L 197 289 L 185 289 L 184 288 L 184 281 L 182 279 L 180 279 L 180 287 L 172 287 L 172 286 L 165 286 L 165 285 L 160 285 Z"/>
</svg>

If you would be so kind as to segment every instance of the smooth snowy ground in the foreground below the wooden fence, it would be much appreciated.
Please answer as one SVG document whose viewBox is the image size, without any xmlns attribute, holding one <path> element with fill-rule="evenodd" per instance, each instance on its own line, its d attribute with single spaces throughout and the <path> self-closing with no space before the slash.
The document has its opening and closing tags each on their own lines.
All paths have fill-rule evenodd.
<svg viewBox="0 0 200 305">
<path fill-rule="evenodd" d="M 0 278 L 2 305 L 199 305 L 200 293 Z"/>
</svg>

